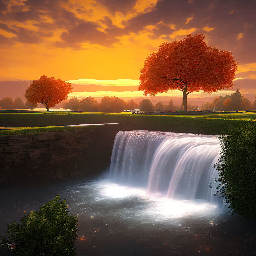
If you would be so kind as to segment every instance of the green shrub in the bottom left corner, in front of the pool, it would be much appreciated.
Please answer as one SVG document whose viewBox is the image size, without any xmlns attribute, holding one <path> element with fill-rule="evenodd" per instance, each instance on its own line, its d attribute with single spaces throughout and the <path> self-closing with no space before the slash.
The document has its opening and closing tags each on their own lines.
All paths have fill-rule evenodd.
<svg viewBox="0 0 256 256">
<path fill-rule="evenodd" d="M 1 243 L 17 244 L 14 255 L 75 255 L 77 216 L 71 216 L 65 200 L 58 202 L 59 199 L 57 195 L 41 206 L 40 211 L 24 216 L 22 224 L 14 220 L 7 229 L 10 237 Z"/>
</svg>

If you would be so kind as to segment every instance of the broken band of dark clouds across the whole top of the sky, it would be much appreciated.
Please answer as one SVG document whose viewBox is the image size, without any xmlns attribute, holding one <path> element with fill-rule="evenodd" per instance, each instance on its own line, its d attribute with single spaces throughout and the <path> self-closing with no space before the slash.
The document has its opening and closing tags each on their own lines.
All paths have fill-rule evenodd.
<svg viewBox="0 0 256 256">
<path fill-rule="evenodd" d="M 182 33 L 186 32 L 176 32 L 195 28 L 193 34 L 202 33 L 209 45 L 233 52 L 239 64 L 255 62 L 255 0 L 159 0 L 156 5 L 151 4 L 142 13 L 124 20 L 124 28 L 114 25 L 108 16 L 87 22 L 81 17 L 90 16 L 93 10 L 69 0 L 27 0 L 22 1 L 22 5 L 9 5 L 9 9 L 6 2 L 0 0 L 0 28 L 15 36 L 9 39 L 2 37 L 1 42 L 39 43 L 44 37 L 53 36 L 56 31 L 59 33 L 62 30 L 65 31 L 61 35 L 62 41 L 56 42 L 56 47 L 78 49 L 84 42 L 112 47 L 113 43 L 118 42 L 117 37 L 143 32 L 148 25 L 154 26 L 149 38 L 162 38 L 163 41 L 183 38 L 186 35 Z M 95 0 L 91 5 L 105 6 L 112 14 L 126 14 L 133 10 L 136 2 Z M 33 21 L 39 32 L 8 25 L 13 24 L 13 21 L 22 23 L 28 20 Z M 107 26 L 104 32 L 99 31 L 99 24 Z M 172 36 L 173 32 L 175 36 Z"/>
</svg>

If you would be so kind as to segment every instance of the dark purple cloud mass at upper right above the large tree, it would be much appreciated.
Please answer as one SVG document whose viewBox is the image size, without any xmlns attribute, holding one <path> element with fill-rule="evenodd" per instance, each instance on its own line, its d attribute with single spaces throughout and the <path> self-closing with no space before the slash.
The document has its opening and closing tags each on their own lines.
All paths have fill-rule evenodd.
<svg viewBox="0 0 256 256">
<path fill-rule="evenodd" d="M 138 33 L 153 25 L 156 28 L 152 39 L 164 36 L 163 39 L 172 40 L 169 37 L 172 30 L 165 24 L 175 25 L 176 30 L 197 28 L 194 33 L 206 35 L 211 46 L 233 52 L 236 61 L 255 62 L 255 12 L 254 0 L 215 0 L 212 3 L 205 0 L 161 0 L 151 11 L 123 21 L 123 31 Z M 193 19 L 188 21 L 188 18 Z M 214 29 L 206 31 L 209 29 L 204 30 L 205 27 Z"/>
</svg>

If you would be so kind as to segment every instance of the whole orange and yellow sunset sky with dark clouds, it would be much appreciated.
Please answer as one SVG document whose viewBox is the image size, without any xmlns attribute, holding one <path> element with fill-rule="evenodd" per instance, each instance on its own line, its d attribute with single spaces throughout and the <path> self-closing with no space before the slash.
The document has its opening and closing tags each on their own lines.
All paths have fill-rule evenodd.
<svg viewBox="0 0 256 256">
<path fill-rule="evenodd" d="M 200 33 L 208 45 L 233 53 L 233 90 L 253 101 L 255 12 L 255 0 L 0 0 L 0 98 L 24 97 L 42 75 L 72 82 L 70 96 L 142 97 L 145 58 L 164 41 Z M 181 102 L 180 95 L 169 91 L 159 99 Z M 188 101 L 209 97 L 198 92 Z"/>
</svg>

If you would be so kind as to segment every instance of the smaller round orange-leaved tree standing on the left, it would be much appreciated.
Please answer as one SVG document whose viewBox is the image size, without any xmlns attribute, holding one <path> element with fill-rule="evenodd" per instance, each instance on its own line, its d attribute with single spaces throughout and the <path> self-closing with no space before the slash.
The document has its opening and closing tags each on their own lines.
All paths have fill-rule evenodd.
<svg viewBox="0 0 256 256">
<path fill-rule="evenodd" d="M 25 97 L 31 104 L 42 103 L 49 111 L 49 108 L 54 107 L 62 100 L 66 100 L 71 92 L 70 83 L 43 75 L 30 84 L 25 92 Z"/>
</svg>

